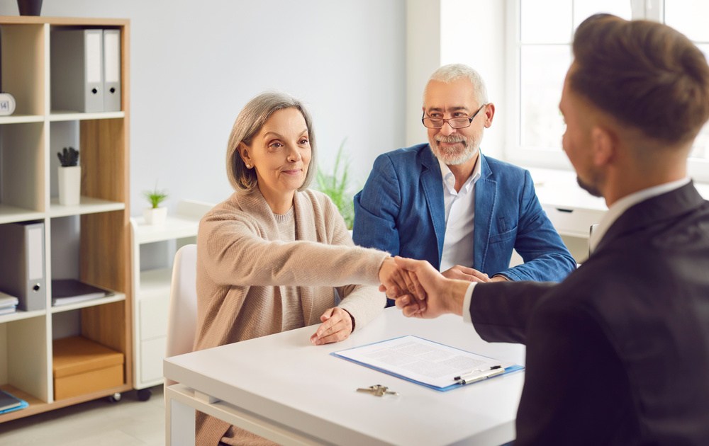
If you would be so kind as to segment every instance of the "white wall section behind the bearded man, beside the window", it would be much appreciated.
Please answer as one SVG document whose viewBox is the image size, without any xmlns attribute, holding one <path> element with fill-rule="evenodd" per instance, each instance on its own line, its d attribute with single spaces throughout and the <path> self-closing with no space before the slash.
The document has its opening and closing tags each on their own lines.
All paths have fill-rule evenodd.
<svg viewBox="0 0 709 446">
<path fill-rule="evenodd" d="M 503 157 L 506 137 L 506 9 L 501 0 L 408 0 L 406 2 L 406 144 L 426 141 L 421 124 L 423 88 L 445 64 L 476 69 L 495 103 L 493 125 L 485 131 L 485 154 Z"/>
</svg>

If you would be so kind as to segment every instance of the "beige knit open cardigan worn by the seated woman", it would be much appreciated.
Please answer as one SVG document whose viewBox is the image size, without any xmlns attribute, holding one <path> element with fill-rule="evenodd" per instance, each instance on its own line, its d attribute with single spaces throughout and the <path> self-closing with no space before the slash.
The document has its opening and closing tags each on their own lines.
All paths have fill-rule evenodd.
<svg viewBox="0 0 709 446">
<path fill-rule="evenodd" d="M 355 247 L 323 193 L 296 192 L 294 219 L 296 241 L 280 241 L 274 215 L 258 189 L 233 193 L 201 219 L 194 350 L 279 333 L 282 297 L 288 293 L 299 295 L 306 325 L 319 324 L 325 309 L 335 307 L 333 287 L 343 297 L 338 307 L 352 314 L 355 330 L 384 309 L 386 297 L 376 285 L 388 254 Z M 200 414 L 197 444 L 217 445 L 229 427 Z M 244 435 L 236 429 L 231 433 Z"/>
</svg>

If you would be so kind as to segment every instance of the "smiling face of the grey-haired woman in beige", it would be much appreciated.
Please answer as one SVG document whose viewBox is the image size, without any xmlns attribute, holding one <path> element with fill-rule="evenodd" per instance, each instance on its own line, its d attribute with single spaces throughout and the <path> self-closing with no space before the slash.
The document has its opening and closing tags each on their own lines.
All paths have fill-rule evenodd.
<svg viewBox="0 0 709 446">
<path fill-rule="evenodd" d="M 306 179 L 312 155 L 308 126 L 300 110 L 282 108 L 274 112 L 250 146 L 241 144 L 240 153 L 245 164 L 255 169 L 259 189 L 272 210 L 286 212 L 293 194 Z M 284 212 L 274 208 L 284 203 Z"/>
</svg>

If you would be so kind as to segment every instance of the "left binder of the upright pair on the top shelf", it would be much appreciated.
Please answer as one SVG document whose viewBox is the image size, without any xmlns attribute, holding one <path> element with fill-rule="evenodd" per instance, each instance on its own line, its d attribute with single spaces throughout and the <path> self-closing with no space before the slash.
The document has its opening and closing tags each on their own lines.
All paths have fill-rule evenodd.
<svg viewBox="0 0 709 446">
<path fill-rule="evenodd" d="M 53 30 L 50 58 L 52 110 L 104 111 L 104 30 Z"/>
</svg>

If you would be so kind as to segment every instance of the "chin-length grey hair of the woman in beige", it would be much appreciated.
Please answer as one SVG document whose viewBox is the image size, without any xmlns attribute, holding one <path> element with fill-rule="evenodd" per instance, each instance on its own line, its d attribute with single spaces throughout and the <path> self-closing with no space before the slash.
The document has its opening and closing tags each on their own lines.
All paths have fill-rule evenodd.
<svg viewBox="0 0 709 446">
<path fill-rule="evenodd" d="M 244 105 L 244 108 L 242 108 L 234 121 L 231 135 L 229 135 L 229 144 L 226 148 L 226 173 L 229 178 L 229 183 L 231 183 L 235 190 L 253 190 L 258 185 L 256 170 L 246 168 L 239 152 L 239 144 L 243 142 L 247 146 L 250 145 L 253 137 L 261 130 L 268 118 L 277 110 L 284 108 L 296 108 L 299 110 L 308 127 L 311 162 L 308 167 L 308 173 L 306 173 L 306 179 L 298 190 L 307 188 L 313 180 L 316 170 L 316 144 L 313 121 L 311 120 L 310 113 L 308 113 L 303 103 L 296 98 L 286 93 L 267 91 L 255 96 Z"/>
</svg>

